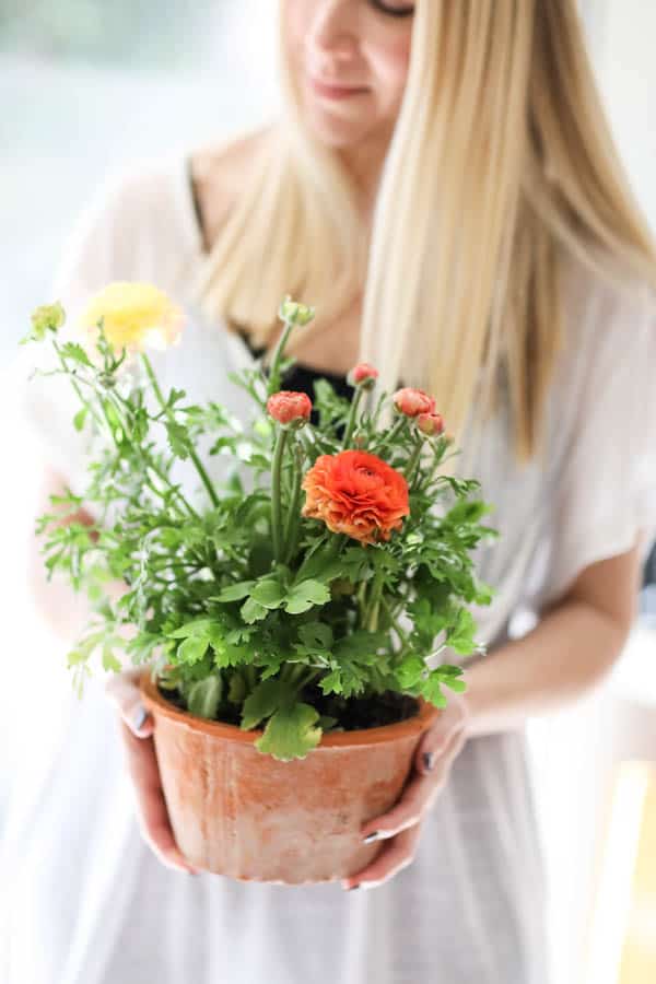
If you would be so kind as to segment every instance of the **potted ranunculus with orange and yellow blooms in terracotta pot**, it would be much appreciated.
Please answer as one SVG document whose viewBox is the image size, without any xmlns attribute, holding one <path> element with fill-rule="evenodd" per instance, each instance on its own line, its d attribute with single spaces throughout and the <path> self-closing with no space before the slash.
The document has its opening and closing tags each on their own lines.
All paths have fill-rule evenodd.
<svg viewBox="0 0 656 984">
<path fill-rule="evenodd" d="M 470 497 L 479 482 L 440 473 L 453 440 L 422 390 L 376 396 L 366 364 L 351 401 L 325 379 L 314 402 L 281 390 L 290 333 L 314 311 L 286 296 L 279 317 L 269 367 L 232 374 L 253 399 L 247 424 L 162 390 L 147 349 L 178 343 L 183 318 L 150 284 L 109 284 L 72 335 L 61 305 L 39 307 L 24 341 L 51 342 L 80 399 L 73 425 L 94 442 L 84 493 L 56 502 L 89 503 L 97 522 L 37 523 L 49 575 L 93 606 L 68 655 L 79 695 L 96 654 L 106 670 L 124 653 L 142 665 L 183 853 L 302 883 L 348 877 L 379 850 L 362 823 L 398 798 L 443 686 L 465 690 L 461 667 L 430 661 L 484 649 L 467 606 L 493 591 L 470 552 L 497 531 Z M 234 458 L 222 485 L 201 440 Z M 201 497 L 175 480 L 180 460 Z"/>
</svg>

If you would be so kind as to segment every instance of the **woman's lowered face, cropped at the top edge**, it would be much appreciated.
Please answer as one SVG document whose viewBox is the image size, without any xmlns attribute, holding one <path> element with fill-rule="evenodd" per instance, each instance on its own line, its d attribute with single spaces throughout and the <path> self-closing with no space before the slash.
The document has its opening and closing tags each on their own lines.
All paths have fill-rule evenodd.
<svg viewBox="0 0 656 984">
<path fill-rule="evenodd" d="M 389 134 L 406 87 L 414 3 L 285 0 L 283 11 L 291 69 L 319 139 L 348 149 Z"/>
</svg>

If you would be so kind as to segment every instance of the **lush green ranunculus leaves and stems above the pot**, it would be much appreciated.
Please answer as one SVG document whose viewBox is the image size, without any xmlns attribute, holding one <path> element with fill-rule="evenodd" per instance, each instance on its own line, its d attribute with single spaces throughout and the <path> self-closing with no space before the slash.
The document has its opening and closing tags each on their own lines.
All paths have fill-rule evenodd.
<svg viewBox="0 0 656 984">
<path fill-rule="evenodd" d="M 311 312 L 285 309 L 298 325 Z M 92 657 L 118 671 L 125 653 L 133 665 L 153 665 L 160 686 L 191 714 L 234 721 L 236 711 L 243 729 L 262 728 L 261 752 L 288 761 L 337 724 L 307 703 L 308 684 L 340 700 L 396 690 L 436 706 L 445 706 L 443 687 L 465 689 L 460 667 L 429 669 L 426 657 L 480 648 L 469 607 L 489 605 L 494 591 L 477 579 L 472 554 L 497 531 L 481 522 L 491 507 L 478 497 L 479 482 L 438 473 L 449 442 L 421 437 L 405 419 L 380 427 L 383 399 L 355 419 L 323 379 L 319 424 L 289 430 L 281 444 L 283 429 L 265 412 L 272 380 L 260 367 L 233 375 L 256 409 L 246 426 L 219 403 L 163 393 L 148 358 L 114 353 L 102 324 L 93 358 L 77 342 L 59 343 L 58 319 L 45 308 L 30 340 L 52 341 L 56 372 L 81 402 L 72 425 L 89 431 L 93 453 L 84 493 L 52 496 L 36 531 L 48 575 L 62 575 L 92 602 L 89 630 L 68 657 L 79 695 Z M 284 378 L 291 363 L 282 349 L 273 368 Z M 388 541 L 363 546 L 302 515 L 303 476 L 319 455 L 343 448 L 347 429 L 411 471 L 410 515 Z M 430 454 L 420 457 L 424 440 Z M 221 489 L 200 460 L 201 444 L 210 458 L 232 461 Z M 180 460 L 196 469 L 194 499 L 175 480 Z M 61 524 L 84 505 L 96 523 Z M 284 520 L 276 530 L 274 515 Z M 116 599 L 107 587 L 117 579 L 125 590 Z"/>
</svg>

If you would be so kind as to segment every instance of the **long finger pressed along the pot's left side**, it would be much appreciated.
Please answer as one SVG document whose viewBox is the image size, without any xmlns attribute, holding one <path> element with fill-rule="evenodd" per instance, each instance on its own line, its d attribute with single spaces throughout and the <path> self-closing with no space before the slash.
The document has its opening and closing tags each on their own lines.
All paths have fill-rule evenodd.
<svg viewBox="0 0 656 984">
<path fill-rule="evenodd" d="M 175 841 L 153 738 L 137 737 L 124 722 L 120 723 L 120 730 L 137 798 L 141 835 L 167 867 L 198 874 L 198 870 L 186 860 Z"/>
</svg>

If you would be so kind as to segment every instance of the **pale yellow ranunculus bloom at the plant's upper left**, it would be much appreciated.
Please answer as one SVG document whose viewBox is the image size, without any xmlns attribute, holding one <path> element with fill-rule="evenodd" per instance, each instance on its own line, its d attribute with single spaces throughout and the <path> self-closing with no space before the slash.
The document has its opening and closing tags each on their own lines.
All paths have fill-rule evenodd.
<svg viewBox="0 0 656 984">
<path fill-rule="evenodd" d="M 142 351 L 147 345 L 166 349 L 179 342 L 184 314 L 151 283 L 115 281 L 95 294 L 80 325 L 87 332 L 103 318 L 107 341 L 116 351 L 124 347 Z"/>
</svg>

